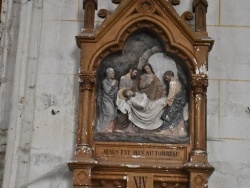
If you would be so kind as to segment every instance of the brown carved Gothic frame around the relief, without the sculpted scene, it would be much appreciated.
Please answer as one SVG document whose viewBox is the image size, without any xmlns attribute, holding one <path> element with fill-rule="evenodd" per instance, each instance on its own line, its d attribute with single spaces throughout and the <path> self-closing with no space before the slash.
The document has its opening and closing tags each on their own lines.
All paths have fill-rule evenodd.
<svg viewBox="0 0 250 188">
<path fill-rule="evenodd" d="M 73 170 L 73 187 L 132 187 L 130 181 L 146 177 L 151 185 L 141 187 L 207 187 L 208 177 L 214 168 L 207 160 L 206 138 L 206 91 L 208 86 L 207 59 L 213 40 L 206 32 L 206 0 L 194 0 L 195 31 L 187 20 L 193 13 L 181 16 L 173 6 L 179 0 L 113 0 L 118 4 L 111 14 L 100 10 L 105 18 L 99 29 L 94 30 L 94 14 L 97 0 L 85 0 L 85 27 L 76 36 L 81 48 L 79 117 L 77 147 L 69 162 Z M 96 70 L 109 54 L 121 51 L 126 39 L 138 29 L 147 29 L 163 41 L 165 52 L 181 58 L 188 67 L 191 78 L 190 93 L 190 143 L 120 143 L 97 142 L 93 140 L 95 121 Z M 182 158 L 150 158 L 135 160 L 115 156 L 105 159 L 100 153 L 103 148 L 177 148 Z M 112 159 L 112 160 L 110 160 Z M 115 161 L 117 160 L 117 161 Z M 130 180 L 129 180 L 130 179 Z M 137 186 L 138 187 L 138 186 Z"/>
</svg>

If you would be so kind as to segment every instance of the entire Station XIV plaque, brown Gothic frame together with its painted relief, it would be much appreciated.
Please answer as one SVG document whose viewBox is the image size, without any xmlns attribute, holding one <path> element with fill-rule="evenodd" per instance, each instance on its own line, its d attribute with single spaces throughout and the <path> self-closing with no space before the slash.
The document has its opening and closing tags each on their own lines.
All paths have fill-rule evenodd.
<svg viewBox="0 0 250 188">
<path fill-rule="evenodd" d="M 206 188 L 207 0 L 84 0 L 73 187 Z M 195 31 L 188 21 L 195 18 Z"/>
</svg>

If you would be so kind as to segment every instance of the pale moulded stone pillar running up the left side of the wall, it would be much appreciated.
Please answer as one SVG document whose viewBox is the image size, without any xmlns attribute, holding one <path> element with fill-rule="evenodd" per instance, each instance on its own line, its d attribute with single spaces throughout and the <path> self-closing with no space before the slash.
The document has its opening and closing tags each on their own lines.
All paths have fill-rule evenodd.
<svg viewBox="0 0 250 188">
<path fill-rule="evenodd" d="M 15 67 L 3 188 L 27 187 L 29 181 L 43 0 L 9 1 L 8 6 L 13 11 L 8 27 L 13 24 L 18 35 L 6 35 L 15 50 L 5 61 Z"/>
</svg>

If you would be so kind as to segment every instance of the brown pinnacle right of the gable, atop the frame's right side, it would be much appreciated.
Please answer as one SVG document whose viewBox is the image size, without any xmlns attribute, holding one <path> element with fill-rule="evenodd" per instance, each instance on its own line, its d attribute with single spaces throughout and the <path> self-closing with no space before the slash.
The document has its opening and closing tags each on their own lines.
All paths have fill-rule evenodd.
<svg viewBox="0 0 250 188">
<path fill-rule="evenodd" d="M 206 32 L 207 0 L 194 0 L 193 12 L 195 13 L 195 31 Z"/>
</svg>

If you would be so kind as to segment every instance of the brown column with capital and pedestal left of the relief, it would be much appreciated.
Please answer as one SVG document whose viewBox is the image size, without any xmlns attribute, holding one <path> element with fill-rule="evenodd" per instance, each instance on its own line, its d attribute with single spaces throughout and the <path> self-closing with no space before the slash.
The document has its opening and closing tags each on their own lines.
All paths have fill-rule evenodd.
<svg viewBox="0 0 250 188">
<path fill-rule="evenodd" d="M 83 72 L 80 77 L 79 112 L 77 129 L 77 148 L 74 158 L 69 162 L 73 170 L 74 188 L 91 186 L 91 167 L 97 163 L 92 157 L 93 149 L 90 147 L 92 119 L 89 114 L 94 110 L 95 73 Z"/>
</svg>

